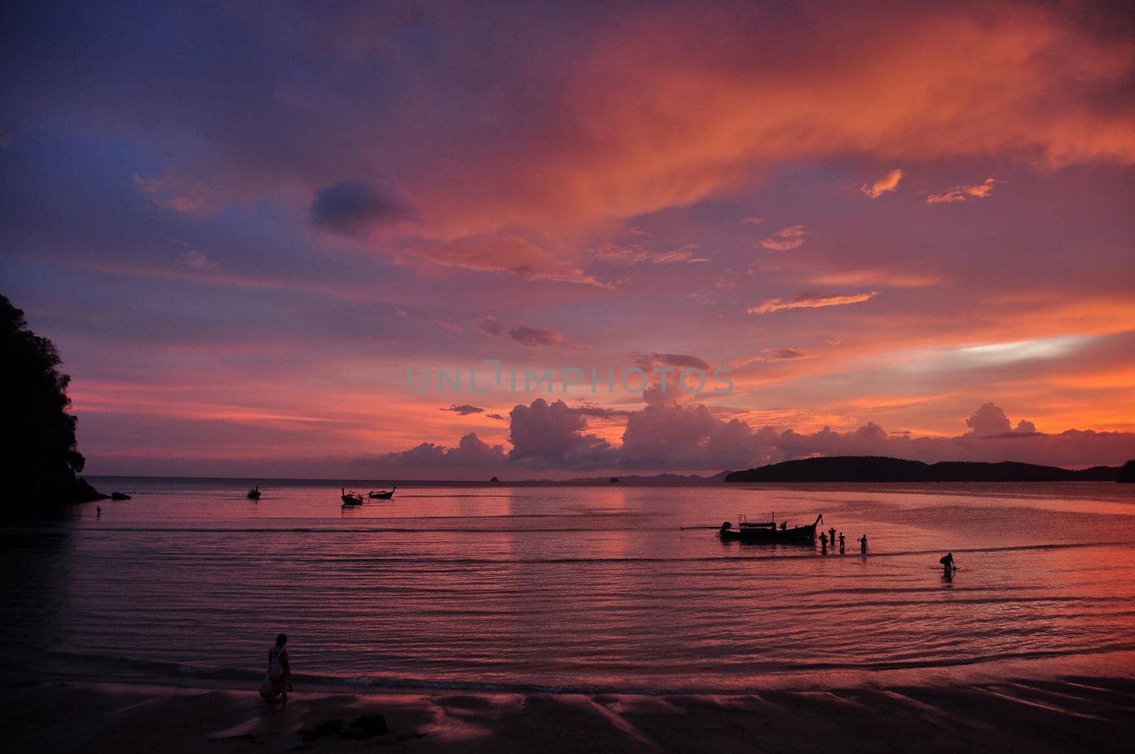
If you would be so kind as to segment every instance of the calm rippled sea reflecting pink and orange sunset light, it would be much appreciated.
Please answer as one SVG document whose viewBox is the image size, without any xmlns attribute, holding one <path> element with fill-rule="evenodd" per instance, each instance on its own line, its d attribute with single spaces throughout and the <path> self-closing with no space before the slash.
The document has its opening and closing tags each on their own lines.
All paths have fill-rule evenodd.
<svg viewBox="0 0 1135 754">
<path fill-rule="evenodd" d="M 342 510 L 329 483 L 255 480 L 255 503 L 239 480 L 94 483 L 134 499 L 0 525 L 9 671 L 254 677 L 286 631 L 296 672 L 358 685 L 717 692 L 1101 659 L 1135 675 L 1130 486 L 419 485 Z M 823 513 L 847 554 L 680 528 L 773 511 Z"/>
</svg>

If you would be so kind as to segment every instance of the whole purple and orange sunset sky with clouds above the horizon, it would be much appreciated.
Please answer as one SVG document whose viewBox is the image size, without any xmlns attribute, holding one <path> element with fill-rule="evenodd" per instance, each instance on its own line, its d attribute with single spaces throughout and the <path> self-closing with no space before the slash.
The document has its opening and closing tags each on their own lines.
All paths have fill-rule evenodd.
<svg viewBox="0 0 1135 754">
<path fill-rule="evenodd" d="M 89 474 L 1135 458 L 1128 3 L 6 16 L 0 293 Z"/>
</svg>

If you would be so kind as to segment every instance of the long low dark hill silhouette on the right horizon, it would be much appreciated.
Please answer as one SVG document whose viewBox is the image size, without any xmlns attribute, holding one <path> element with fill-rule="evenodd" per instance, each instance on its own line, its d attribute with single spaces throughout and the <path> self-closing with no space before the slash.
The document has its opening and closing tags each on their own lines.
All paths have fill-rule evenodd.
<svg viewBox="0 0 1135 754">
<path fill-rule="evenodd" d="M 1118 477 L 1119 469 L 1111 466 L 1071 471 L 1014 461 L 923 463 L 882 455 L 835 455 L 734 471 L 725 481 L 1115 481 Z"/>
</svg>

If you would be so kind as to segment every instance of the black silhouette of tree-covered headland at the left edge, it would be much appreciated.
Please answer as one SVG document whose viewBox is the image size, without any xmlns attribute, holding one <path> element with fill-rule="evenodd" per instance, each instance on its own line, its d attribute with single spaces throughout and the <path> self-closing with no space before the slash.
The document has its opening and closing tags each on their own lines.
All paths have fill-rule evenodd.
<svg viewBox="0 0 1135 754">
<path fill-rule="evenodd" d="M 24 312 L 0 295 L 0 487 L 10 505 L 101 497 L 83 470 L 67 413 L 70 377 L 51 341 L 27 329 Z"/>
</svg>

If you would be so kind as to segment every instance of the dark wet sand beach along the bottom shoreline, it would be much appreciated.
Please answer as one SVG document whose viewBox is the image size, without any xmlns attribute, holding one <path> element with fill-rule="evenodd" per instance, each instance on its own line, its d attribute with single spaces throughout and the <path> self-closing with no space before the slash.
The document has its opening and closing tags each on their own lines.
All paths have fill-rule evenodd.
<svg viewBox="0 0 1135 754">
<path fill-rule="evenodd" d="M 297 687 L 286 709 L 245 688 L 7 680 L 0 710 L 14 752 L 1118 752 L 1135 735 L 1135 680 L 728 696 Z M 376 712 L 386 734 L 330 732 Z"/>
</svg>

